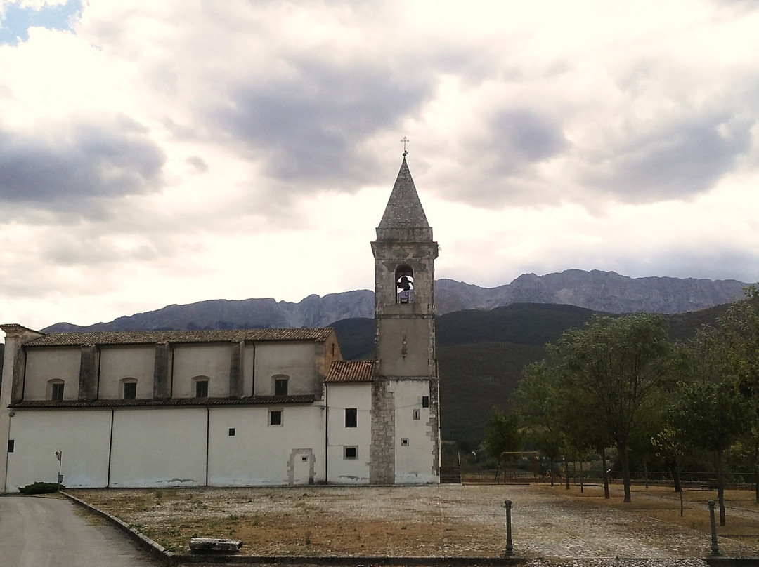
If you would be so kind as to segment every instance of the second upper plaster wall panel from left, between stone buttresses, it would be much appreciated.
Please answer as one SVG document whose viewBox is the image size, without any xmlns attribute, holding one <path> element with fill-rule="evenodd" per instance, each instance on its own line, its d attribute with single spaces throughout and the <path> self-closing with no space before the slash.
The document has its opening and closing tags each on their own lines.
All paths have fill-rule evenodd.
<svg viewBox="0 0 759 567">
<path fill-rule="evenodd" d="M 121 380 L 137 378 L 137 399 L 153 397 L 156 347 L 153 345 L 100 347 L 100 399 L 120 399 Z"/>
</svg>

